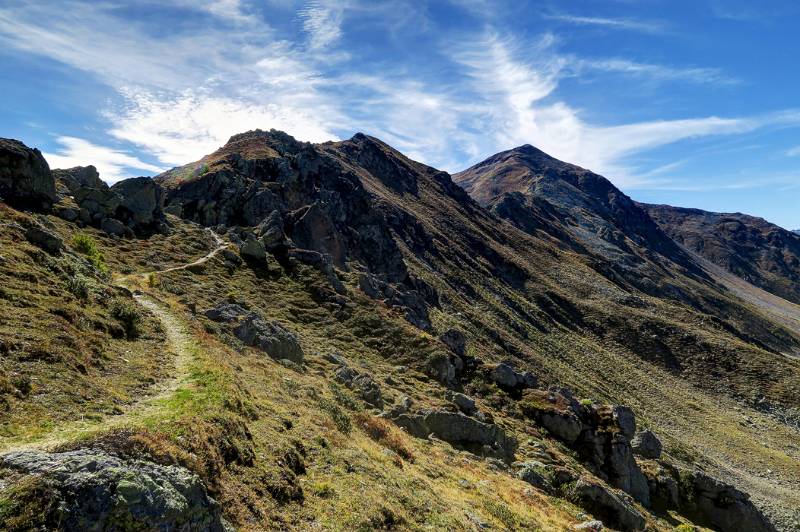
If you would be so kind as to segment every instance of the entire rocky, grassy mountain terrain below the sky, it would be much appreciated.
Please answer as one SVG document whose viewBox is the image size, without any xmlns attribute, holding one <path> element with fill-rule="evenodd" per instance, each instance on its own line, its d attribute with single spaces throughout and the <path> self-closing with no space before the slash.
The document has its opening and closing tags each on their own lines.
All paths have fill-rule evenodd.
<svg viewBox="0 0 800 532">
<path fill-rule="evenodd" d="M 800 237 L 525 145 L 0 140 L 0 529 L 800 530 Z"/>
</svg>

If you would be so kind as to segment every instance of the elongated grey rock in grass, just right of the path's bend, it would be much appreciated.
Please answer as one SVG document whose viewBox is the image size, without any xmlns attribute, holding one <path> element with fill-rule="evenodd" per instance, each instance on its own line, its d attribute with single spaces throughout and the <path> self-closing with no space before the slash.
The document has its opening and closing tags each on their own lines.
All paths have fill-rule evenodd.
<svg viewBox="0 0 800 532">
<path fill-rule="evenodd" d="M 226 323 L 243 344 L 257 347 L 277 360 L 303 363 L 303 349 L 297 336 L 276 322 L 267 322 L 260 314 L 239 305 L 221 303 L 203 314 L 211 321 Z"/>
</svg>

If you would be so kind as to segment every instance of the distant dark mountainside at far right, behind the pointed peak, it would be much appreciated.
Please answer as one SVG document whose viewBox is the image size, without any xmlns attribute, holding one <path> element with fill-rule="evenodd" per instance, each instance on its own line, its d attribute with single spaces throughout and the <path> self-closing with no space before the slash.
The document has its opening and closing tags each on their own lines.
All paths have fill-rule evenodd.
<svg viewBox="0 0 800 532">
<path fill-rule="evenodd" d="M 800 235 L 762 218 L 642 205 L 676 242 L 768 292 L 800 303 Z"/>
</svg>

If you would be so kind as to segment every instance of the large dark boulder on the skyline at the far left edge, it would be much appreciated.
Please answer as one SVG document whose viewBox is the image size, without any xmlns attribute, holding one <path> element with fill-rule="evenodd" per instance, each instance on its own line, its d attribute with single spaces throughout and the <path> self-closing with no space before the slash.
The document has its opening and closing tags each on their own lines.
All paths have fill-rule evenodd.
<svg viewBox="0 0 800 532">
<path fill-rule="evenodd" d="M 0 199 L 37 209 L 49 209 L 55 203 L 55 179 L 39 150 L 0 138 Z"/>
</svg>

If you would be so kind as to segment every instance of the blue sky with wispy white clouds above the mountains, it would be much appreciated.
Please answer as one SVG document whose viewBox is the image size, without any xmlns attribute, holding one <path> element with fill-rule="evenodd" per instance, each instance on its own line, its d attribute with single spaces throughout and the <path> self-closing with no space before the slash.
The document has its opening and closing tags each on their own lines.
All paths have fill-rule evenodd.
<svg viewBox="0 0 800 532">
<path fill-rule="evenodd" d="M 234 133 L 455 172 L 529 143 L 640 201 L 800 227 L 800 4 L 0 0 L 0 136 L 153 175 Z"/>
</svg>

